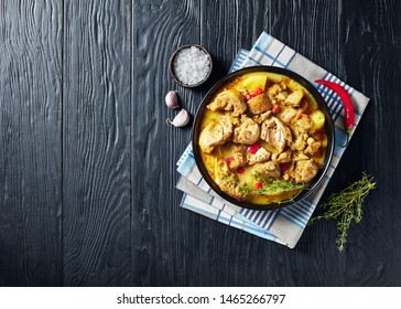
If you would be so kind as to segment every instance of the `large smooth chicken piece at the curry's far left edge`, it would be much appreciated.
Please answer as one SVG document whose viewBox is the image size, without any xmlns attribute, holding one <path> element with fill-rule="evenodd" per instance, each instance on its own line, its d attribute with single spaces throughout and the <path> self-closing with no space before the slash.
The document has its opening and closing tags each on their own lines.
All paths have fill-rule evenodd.
<svg viewBox="0 0 401 309">
<path fill-rule="evenodd" d="M 224 117 L 221 121 L 209 122 L 199 135 L 199 147 L 202 151 L 210 153 L 216 146 L 224 145 L 232 135 L 232 122 L 230 117 Z"/>
</svg>

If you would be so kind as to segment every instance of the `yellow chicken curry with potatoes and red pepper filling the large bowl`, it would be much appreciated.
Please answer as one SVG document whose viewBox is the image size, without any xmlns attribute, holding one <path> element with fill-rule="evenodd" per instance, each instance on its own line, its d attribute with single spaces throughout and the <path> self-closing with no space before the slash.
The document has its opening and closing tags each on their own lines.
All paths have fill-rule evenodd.
<svg viewBox="0 0 401 309">
<path fill-rule="evenodd" d="M 212 179 L 238 201 L 294 199 L 323 166 L 325 115 L 295 81 L 275 73 L 245 74 L 212 98 L 198 146 Z"/>
</svg>

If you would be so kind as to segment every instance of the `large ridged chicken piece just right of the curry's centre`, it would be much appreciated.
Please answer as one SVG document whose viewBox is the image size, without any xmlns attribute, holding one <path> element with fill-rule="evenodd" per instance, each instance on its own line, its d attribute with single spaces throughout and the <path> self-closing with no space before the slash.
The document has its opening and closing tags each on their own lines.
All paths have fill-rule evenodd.
<svg viewBox="0 0 401 309">
<path fill-rule="evenodd" d="M 262 124 L 260 138 L 265 140 L 279 153 L 284 150 L 286 142 L 292 142 L 291 130 L 275 117 L 271 117 Z"/>
</svg>

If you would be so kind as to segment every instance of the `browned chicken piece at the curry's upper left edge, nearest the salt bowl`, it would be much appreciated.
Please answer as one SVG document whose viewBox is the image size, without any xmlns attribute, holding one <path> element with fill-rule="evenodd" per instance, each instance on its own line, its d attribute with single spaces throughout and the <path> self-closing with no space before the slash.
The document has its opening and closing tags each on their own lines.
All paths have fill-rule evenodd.
<svg viewBox="0 0 401 309">
<path fill-rule="evenodd" d="M 247 110 L 243 95 L 236 89 L 224 90 L 207 106 L 212 111 L 234 110 L 232 116 L 238 117 Z"/>
</svg>

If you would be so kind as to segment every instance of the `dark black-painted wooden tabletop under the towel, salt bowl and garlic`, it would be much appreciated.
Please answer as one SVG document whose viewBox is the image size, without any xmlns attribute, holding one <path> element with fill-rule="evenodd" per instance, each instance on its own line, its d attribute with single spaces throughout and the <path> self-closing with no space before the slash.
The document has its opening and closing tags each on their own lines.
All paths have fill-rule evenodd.
<svg viewBox="0 0 401 309">
<path fill-rule="evenodd" d="M 57 1 L 0 3 L 0 285 L 400 286 L 401 1 Z M 371 98 L 326 194 L 378 189 L 345 253 L 335 222 L 295 247 L 178 209 L 175 162 L 192 114 L 263 31 Z M 207 85 L 177 86 L 171 52 L 199 43 Z"/>
</svg>

